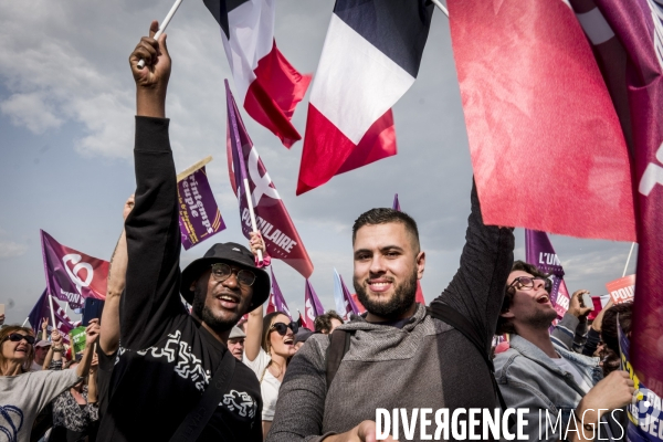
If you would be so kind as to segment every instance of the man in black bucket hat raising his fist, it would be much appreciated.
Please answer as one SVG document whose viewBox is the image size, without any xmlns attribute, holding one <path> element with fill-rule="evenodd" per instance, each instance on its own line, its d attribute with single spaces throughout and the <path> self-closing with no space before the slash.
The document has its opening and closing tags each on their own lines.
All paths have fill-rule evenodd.
<svg viewBox="0 0 663 442">
<path fill-rule="evenodd" d="M 125 221 L 118 356 L 97 441 L 257 442 L 260 385 L 227 345 L 240 317 L 267 299 L 270 277 L 249 249 L 232 242 L 212 245 L 180 272 L 177 177 L 165 110 L 170 56 L 166 34 L 151 38 L 157 30 L 155 21 L 129 56 L 136 191 Z M 190 315 L 180 295 L 192 305 Z"/>
</svg>

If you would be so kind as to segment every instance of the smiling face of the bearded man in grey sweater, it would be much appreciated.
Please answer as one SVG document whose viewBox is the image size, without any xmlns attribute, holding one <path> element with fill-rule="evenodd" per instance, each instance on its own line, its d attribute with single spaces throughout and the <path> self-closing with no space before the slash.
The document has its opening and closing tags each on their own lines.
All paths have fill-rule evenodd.
<svg viewBox="0 0 663 442">
<path fill-rule="evenodd" d="M 403 223 L 361 227 L 355 236 L 354 256 L 352 282 L 369 313 L 367 320 L 394 320 L 414 314 L 417 280 L 423 276 L 425 255 Z"/>
</svg>

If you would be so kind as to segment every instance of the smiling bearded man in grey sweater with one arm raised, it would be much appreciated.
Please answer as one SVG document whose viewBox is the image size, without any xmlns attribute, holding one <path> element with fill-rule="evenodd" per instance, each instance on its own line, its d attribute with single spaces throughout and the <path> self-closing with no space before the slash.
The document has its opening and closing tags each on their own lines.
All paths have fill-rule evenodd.
<svg viewBox="0 0 663 442">
<path fill-rule="evenodd" d="M 461 313 L 487 352 L 513 263 L 514 235 L 513 229 L 483 223 L 474 186 L 465 241 L 457 273 L 433 303 Z M 355 221 L 352 248 L 355 290 L 367 314 L 337 328 L 351 338 L 328 389 L 329 336 L 314 335 L 297 351 L 267 441 L 371 441 L 377 408 L 407 409 L 409 417 L 413 409 L 432 409 L 431 427 L 420 428 L 417 418 L 412 438 L 403 432 L 402 419 L 392 422 L 394 439 L 398 429 L 403 439 L 420 440 L 433 433 L 439 409 L 451 415 L 460 408 L 499 408 L 476 347 L 414 302 L 425 264 L 415 222 L 402 212 L 372 209 Z"/>
</svg>

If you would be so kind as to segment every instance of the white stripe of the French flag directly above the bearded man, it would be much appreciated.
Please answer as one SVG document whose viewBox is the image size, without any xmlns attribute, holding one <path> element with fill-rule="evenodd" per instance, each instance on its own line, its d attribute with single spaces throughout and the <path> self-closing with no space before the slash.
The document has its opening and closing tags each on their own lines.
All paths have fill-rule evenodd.
<svg viewBox="0 0 663 442">
<path fill-rule="evenodd" d="M 413 76 L 332 14 L 311 104 L 346 137 L 359 144 L 413 83 Z"/>
</svg>

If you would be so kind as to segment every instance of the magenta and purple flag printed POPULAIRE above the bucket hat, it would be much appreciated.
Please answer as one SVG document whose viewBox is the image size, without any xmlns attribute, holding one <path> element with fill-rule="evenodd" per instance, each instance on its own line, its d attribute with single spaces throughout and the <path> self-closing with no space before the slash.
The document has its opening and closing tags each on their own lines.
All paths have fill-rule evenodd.
<svg viewBox="0 0 663 442">
<path fill-rule="evenodd" d="M 276 186 L 246 133 L 228 81 L 225 98 L 228 102 L 228 169 L 230 185 L 240 203 L 244 236 L 249 238 L 252 231 L 244 189 L 244 179 L 246 179 L 255 211 L 255 222 L 265 240 L 267 253 L 295 269 L 302 276 L 309 277 L 313 273 L 311 257 L 276 191 Z M 239 155 L 240 151 L 242 155 Z"/>
</svg>

